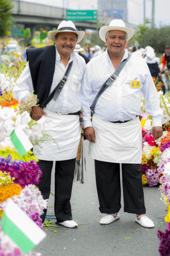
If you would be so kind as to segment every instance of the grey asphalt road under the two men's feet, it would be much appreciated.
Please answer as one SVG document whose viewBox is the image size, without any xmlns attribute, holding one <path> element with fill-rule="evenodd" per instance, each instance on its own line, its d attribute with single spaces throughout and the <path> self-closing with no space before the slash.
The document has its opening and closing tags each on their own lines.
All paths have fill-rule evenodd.
<svg viewBox="0 0 170 256">
<path fill-rule="evenodd" d="M 85 148 L 87 155 L 88 141 L 85 141 Z M 53 176 L 54 173 L 52 193 L 54 193 Z M 99 225 L 99 220 L 104 214 L 98 210 L 94 161 L 87 156 L 87 179 L 83 185 L 79 182 L 73 183 L 71 198 L 73 220 L 79 224 L 79 227 L 44 228 L 47 236 L 35 251 L 41 252 L 43 256 L 159 256 L 157 230 L 167 228 L 164 220 L 167 212 L 165 204 L 160 200 L 158 187 L 143 188 L 147 215 L 154 221 L 155 228 L 141 227 L 135 223 L 135 214 L 123 212 L 123 207 L 120 210 L 120 220 L 110 225 Z M 48 214 L 54 214 L 53 204 L 54 198 L 50 196 Z M 123 206 L 123 200 L 121 204 Z M 55 223 L 55 220 L 52 221 Z"/>
</svg>

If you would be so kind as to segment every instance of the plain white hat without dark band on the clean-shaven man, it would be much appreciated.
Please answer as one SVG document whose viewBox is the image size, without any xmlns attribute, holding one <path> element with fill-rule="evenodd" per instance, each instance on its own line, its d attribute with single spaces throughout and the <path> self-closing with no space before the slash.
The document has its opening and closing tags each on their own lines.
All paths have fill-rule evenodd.
<svg viewBox="0 0 170 256">
<path fill-rule="evenodd" d="M 125 23 L 123 20 L 112 20 L 109 24 L 109 26 L 101 27 L 99 30 L 99 36 L 100 38 L 106 42 L 105 36 L 106 33 L 110 30 L 121 30 L 125 31 L 127 33 L 127 41 L 130 40 L 130 38 L 134 35 L 134 29 L 125 27 Z"/>
</svg>

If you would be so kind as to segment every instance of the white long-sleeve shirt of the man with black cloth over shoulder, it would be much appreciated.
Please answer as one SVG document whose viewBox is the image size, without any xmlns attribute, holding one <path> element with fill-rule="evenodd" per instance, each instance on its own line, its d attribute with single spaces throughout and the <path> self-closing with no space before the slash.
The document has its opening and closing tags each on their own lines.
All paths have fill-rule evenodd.
<svg viewBox="0 0 170 256">
<path fill-rule="evenodd" d="M 86 68 L 86 63 L 81 56 L 74 52 L 72 52 L 68 64 L 72 60 L 73 65 L 68 80 L 64 85 L 64 88 L 62 89 L 58 99 L 56 101 L 51 100 L 46 106 L 46 109 L 50 111 L 58 113 L 74 113 L 81 109 L 81 99 L 79 92 L 81 81 Z M 65 67 L 64 64 L 60 61 L 60 55 L 56 49 L 55 71 L 50 93 L 61 80 L 62 76 L 66 72 L 67 66 Z M 19 104 L 21 104 L 22 101 L 27 101 L 27 96 L 33 92 L 33 90 L 34 89 L 29 69 L 29 63 L 27 63 L 24 71 L 14 86 L 13 97 L 19 100 Z"/>
</svg>

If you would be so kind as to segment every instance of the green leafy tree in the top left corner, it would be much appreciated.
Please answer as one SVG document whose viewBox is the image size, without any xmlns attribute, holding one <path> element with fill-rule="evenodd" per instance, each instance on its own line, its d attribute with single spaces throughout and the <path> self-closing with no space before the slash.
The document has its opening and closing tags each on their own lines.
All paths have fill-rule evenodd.
<svg viewBox="0 0 170 256">
<path fill-rule="evenodd" d="M 14 23 L 12 19 L 13 5 L 11 0 L 1 0 L 0 1 L 0 36 L 6 36 L 6 32 L 9 27 Z"/>
</svg>

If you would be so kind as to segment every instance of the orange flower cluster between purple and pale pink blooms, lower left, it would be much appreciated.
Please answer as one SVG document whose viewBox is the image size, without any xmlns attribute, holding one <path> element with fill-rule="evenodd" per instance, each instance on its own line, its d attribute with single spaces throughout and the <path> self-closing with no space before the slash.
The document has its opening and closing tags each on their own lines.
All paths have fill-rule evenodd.
<svg viewBox="0 0 170 256">
<path fill-rule="evenodd" d="M 12 196 L 18 196 L 21 190 L 21 186 L 16 183 L 7 186 L 0 186 L 0 204 L 8 198 L 12 198 Z"/>
</svg>

